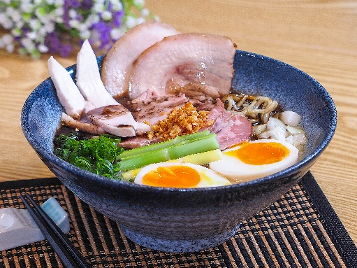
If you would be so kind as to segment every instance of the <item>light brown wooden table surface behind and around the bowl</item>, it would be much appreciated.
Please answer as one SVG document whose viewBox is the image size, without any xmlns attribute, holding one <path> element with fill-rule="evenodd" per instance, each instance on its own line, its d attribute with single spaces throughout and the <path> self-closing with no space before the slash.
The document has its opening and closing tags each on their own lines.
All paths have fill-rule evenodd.
<svg viewBox="0 0 357 268">
<path fill-rule="evenodd" d="M 337 132 L 311 171 L 357 243 L 356 1 L 150 0 L 146 6 L 179 31 L 229 36 L 238 49 L 296 66 L 326 87 L 337 106 Z M 53 176 L 20 127 L 22 104 L 49 76 L 48 57 L 0 50 L 0 181 Z M 75 57 L 57 59 L 75 63 Z"/>
</svg>

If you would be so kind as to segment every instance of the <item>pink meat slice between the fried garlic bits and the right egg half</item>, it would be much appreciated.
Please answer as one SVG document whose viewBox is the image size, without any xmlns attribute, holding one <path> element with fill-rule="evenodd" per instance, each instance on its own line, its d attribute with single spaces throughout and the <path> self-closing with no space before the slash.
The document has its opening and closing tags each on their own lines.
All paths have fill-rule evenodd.
<svg viewBox="0 0 357 268">
<path fill-rule="evenodd" d="M 252 137 L 252 123 L 244 115 L 226 111 L 220 99 L 217 99 L 217 104 L 208 114 L 207 120 L 213 120 L 213 124 L 203 127 L 200 131 L 208 129 L 217 134 L 221 150 L 249 141 Z"/>
</svg>

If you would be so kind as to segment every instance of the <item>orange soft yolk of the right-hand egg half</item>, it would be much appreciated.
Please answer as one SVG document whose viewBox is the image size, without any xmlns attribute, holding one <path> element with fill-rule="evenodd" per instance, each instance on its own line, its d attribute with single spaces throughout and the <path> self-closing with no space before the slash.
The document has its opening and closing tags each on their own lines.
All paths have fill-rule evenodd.
<svg viewBox="0 0 357 268">
<path fill-rule="evenodd" d="M 243 143 L 237 150 L 226 152 L 227 155 L 237 157 L 245 164 L 272 164 L 283 160 L 290 150 L 281 143 Z"/>
</svg>

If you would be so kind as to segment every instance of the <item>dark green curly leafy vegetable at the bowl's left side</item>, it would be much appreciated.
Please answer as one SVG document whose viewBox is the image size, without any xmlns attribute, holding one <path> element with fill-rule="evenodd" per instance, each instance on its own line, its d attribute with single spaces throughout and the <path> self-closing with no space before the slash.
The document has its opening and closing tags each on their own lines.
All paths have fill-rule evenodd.
<svg viewBox="0 0 357 268">
<path fill-rule="evenodd" d="M 61 134 L 54 139 L 54 155 L 81 169 L 119 179 L 119 155 L 124 152 L 124 148 L 117 146 L 119 142 L 119 138 L 111 135 L 81 140 L 78 132 Z"/>
</svg>

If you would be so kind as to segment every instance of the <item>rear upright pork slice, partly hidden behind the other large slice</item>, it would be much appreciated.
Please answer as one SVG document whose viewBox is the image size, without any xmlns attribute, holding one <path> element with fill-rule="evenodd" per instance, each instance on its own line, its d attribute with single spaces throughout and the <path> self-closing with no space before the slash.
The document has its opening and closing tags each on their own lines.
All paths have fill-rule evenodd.
<svg viewBox="0 0 357 268">
<path fill-rule="evenodd" d="M 126 94 L 134 60 L 154 43 L 174 34 L 180 32 L 168 24 L 150 20 L 133 27 L 119 38 L 103 59 L 101 78 L 108 92 L 113 97 Z"/>
</svg>

